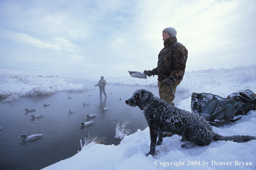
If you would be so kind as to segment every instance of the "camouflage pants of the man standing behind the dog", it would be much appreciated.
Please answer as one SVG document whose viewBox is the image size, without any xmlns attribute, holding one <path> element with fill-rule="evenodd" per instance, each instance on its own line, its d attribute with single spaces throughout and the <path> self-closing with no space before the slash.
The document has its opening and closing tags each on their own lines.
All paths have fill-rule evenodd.
<svg viewBox="0 0 256 170">
<path fill-rule="evenodd" d="M 163 80 L 164 81 L 164 80 Z M 164 85 L 163 81 L 158 81 L 157 85 L 159 87 L 159 97 L 163 101 L 170 103 L 171 105 L 174 106 L 173 100 L 175 98 L 176 94 L 176 87 L 180 84 L 180 80 L 176 81 L 175 85 L 173 85 L 173 90 L 171 86 L 169 85 Z"/>
</svg>

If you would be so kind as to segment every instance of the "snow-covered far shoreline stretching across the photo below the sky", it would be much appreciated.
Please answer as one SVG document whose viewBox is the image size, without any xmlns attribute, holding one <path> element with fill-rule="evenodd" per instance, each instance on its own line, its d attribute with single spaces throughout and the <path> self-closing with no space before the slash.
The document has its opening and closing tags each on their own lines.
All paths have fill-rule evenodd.
<svg viewBox="0 0 256 170">
<path fill-rule="evenodd" d="M 128 74 L 128 72 L 127 72 Z M 139 85 L 150 89 L 157 86 L 157 76 L 146 79 L 136 79 L 131 76 L 106 77 L 108 84 Z M 69 78 L 14 76 L 0 74 L 0 96 L 4 101 L 12 101 L 22 96 L 50 95 L 59 91 L 84 91 L 86 85 L 68 83 Z M 99 79 L 88 79 L 88 82 L 98 82 Z M 212 93 L 228 96 L 234 91 L 250 89 L 256 91 L 256 65 L 235 67 L 233 69 L 200 70 L 185 72 L 177 91 L 184 92 L 184 97 L 191 97 L 193 92 Z M 8 97 L 8 98 L 7 98 Z M 1 99 L 1 98 L 0 98 Z"/>
</svg>

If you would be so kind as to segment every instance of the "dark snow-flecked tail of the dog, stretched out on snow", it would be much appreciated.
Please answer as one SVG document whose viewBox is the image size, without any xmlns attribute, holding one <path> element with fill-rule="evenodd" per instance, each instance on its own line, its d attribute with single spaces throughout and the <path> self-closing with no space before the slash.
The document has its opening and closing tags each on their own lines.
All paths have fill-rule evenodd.
<svg viewBox="0 0 256 170">
<path fill-rule="evenodd" d="M 213 140 L 225 140 L 225 141 L 232 141 L 232 142 L 237 142 L 237 143 L 243 143 L 243 142 L 248 142 L 250 140 L 256 140 L 256 137 L 252 137 L 252 136 L 240 136 L 240 135 L 234 135 L 231 137 L 224 137 L 222 135 L 219 134 L 214 134 Z"/>
</svg>

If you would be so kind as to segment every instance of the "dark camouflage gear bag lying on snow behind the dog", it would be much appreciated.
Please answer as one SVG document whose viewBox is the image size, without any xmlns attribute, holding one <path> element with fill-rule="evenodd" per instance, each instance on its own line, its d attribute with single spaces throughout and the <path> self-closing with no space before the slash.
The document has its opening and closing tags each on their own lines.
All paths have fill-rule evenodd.
<svg viewBox="0 0 256 170">
<path fill-rule="evenodd" d="M 210 93 L 191 95 L 191 112 L 204 117 L 212 126 L 238 121 L 250 110 L 256 110 L 256 94 L 249 89 L 233 92 L 227 98 Z M 241 116 L 234 119 L 236 115 Z"/>
</svg>

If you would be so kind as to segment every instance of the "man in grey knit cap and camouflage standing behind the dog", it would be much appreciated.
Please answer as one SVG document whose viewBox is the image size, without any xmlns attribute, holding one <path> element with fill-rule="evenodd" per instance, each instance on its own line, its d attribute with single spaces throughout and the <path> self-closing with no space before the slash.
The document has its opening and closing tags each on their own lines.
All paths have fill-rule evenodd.
<svg viewBox="0 0 256 170">
<path fill-rule="evenodd" d="M 177 42 L 176 34 L 176 30 L 172 27 L 163 30 L 164 48 L 158 55 L 157 67 L 143 72 L 147 76 L 158 76 L 160 99 L 173 106 L 176 87 L 183 79 L 188 58 L 188 50 Z"/>
</svg>

